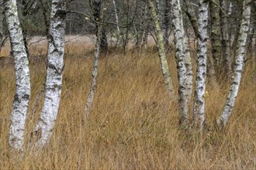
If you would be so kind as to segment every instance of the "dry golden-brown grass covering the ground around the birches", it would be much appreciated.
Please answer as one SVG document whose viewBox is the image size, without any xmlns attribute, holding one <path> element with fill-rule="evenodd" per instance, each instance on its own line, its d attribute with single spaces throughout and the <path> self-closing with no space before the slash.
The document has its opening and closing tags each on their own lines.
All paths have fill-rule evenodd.
<svg viewBox="0 0 256 170">
<path fill-rule="evenodd" d="M 98 89 L 88 121 L 84 108 L 91 85 L 93 49 L 75 44 L 65 58 L 61 107 L 48 148 L 9 152 L 14 95 L 12 66 L 0 68 L 0 169 L 254 169 L 256 167 L 255 65 L 247 64 L 233 115 L 224 131 L 213 128 L 228 83 L 207 86 L 207 128 L 202 136 L 178 127 L 177 101 L 168 100 L 155 48 L 145 53 L 110 53 L 99 60 Z M 33 49 L 36 50 L 36 49 Z M 78 50 L 78 53 L 76 53 Z M 34 52 L 36 53 L 36 51 Z M 177 89 L 175 60 L 169 63 Z M 30 66 L 33 106 L 45 64 Z M 36 118 L 28 114 L 26 141 Z M 30 107 L 31 107 L 30 106 Z"/>
</svg>

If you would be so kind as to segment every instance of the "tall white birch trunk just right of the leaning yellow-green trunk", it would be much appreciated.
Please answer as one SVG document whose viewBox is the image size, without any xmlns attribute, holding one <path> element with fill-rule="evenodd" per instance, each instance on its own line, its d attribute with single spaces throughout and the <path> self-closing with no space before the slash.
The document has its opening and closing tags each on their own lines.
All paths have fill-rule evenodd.
<svg viewBox="0 0 256 170">
<path fill-rule="evenodd" d="M 184 54 L 184 29 L 182 19 L 182 9 L 179 0 L 172 0 L 172 24 L 175 34 L 175 51 L 176 51 L 176 64 L 178 68 L 178 102 L 179 102 L 179 119 L 180 124 L 184 124 L 189 120 L 189 107 L 188 107 L 188 88 L 187 88 L 187 70 L 185 67 L 185 54 Z"/>
</svg>

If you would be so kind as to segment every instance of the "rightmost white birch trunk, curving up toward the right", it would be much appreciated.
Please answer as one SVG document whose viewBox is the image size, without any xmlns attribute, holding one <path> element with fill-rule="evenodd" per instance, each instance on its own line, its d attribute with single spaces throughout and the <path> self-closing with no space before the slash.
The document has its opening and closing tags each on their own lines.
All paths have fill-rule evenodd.
<svg viewBox="0 0 256 170">
<path fill-rule="evenodd" d="M 241 21 L 239 38 L 237 41 L 236 60 L 234 64 L 234 73 L 230 85 L 230 92 L 228 93 L 226 104 L 224 105 L 223 108 L 223 112 L 217 119 L 217 124 L 219 124 L 221 127 L 226 126 L 227 121 L 229 120 L 230 115 L 232 113 L 232 110 L 234 109 L 234 104 L 237 98 L 240 80 L 242 77 L 244 56 L 246 53 L 247 34 L 250 26 L 251 0 L 245 0 L 243 7 L 243 18 Z"/>
</svg>

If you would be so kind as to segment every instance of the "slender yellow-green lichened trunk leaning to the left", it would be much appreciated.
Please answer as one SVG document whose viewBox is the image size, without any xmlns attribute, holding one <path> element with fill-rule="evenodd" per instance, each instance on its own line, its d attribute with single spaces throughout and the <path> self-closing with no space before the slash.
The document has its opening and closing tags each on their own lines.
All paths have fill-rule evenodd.
<svg viewBox="0 0 256 170">
<path fill-rule="evenodd" d="M 169 97 L 173 98 L 174 97 L 173 84 L 171 82 L 171 74 L 169 72 L 165 49 L 164 49 L 164 38 L 161 32 L 161 27 L 157 17 L 157 12 L 154 7 L 154 1 L 149 0 L 148 3 L 149 3 L 149 7 L 154 20 L 154 27 L 155 27 L 155 32 L 157 36 L 158 56 L 161 60 L 161 70 L 164 75 L 164 83 L 165 83 L 165 86 L 167 87 Z"/>
</svg>

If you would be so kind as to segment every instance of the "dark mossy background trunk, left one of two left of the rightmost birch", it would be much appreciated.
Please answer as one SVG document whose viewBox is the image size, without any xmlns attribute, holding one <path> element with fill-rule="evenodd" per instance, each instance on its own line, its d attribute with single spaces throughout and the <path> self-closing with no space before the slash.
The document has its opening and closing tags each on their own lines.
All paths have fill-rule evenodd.
<svg viewBox="0 0 256 170">
<path fill-rule="evenodd" d="M 210 16 L 211 16 L 211 43 L 213 66 L 215 72 L 218 73 L 220 69 L 221 60 L 221 42 L 220 42 L 220 0 L 212 0 L 209 2 Z"/>
</svg>

